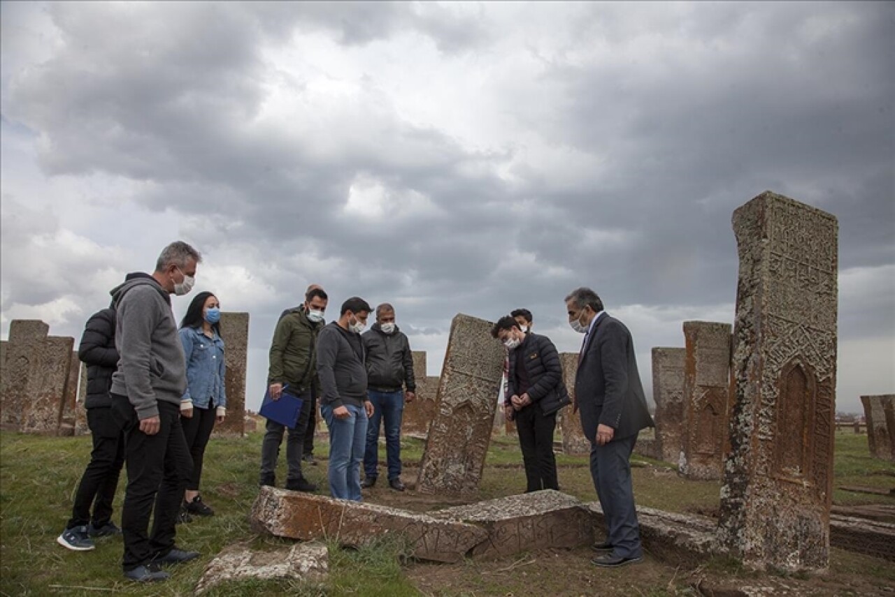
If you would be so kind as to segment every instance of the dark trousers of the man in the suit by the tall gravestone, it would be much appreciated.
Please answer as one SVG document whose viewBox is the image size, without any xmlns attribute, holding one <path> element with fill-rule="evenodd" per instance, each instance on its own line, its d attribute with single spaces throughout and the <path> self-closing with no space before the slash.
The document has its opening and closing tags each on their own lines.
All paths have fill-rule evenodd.
<svg viewBox="0 0 895 597">
<path fill-rule="evenodd" d="M 631 451 L 637 434 L 598 446 L 591 443 L 591 476 L 606 517 L 607 539 L 612 553 L 621 558 L 640 558 L 640 526 L 631 485 Z"/>
</svg>

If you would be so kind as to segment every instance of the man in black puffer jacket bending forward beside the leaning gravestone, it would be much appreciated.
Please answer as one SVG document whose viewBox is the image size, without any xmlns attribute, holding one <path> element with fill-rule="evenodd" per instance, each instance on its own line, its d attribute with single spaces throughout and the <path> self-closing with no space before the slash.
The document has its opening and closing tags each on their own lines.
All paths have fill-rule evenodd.
<svg viewBox="0 0 895 597">
<path fill-rule="evenodd" d="M 524 333 L 516 319 L 501 317 L 491 335 L 509 350 L 507 418 L 516 419 L 519 446 L 528 485 L 525 492 L 559 489 L 553 431 L 557 411 L 569 403 L 562 383 L 562 365 L 547 336 Z"/>
</svg>

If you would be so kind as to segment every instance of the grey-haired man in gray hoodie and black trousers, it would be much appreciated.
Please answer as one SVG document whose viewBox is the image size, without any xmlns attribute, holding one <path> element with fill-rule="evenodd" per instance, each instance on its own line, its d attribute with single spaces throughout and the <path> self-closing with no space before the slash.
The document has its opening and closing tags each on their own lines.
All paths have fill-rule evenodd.
<svg viewBox="0 0 895 597">
<path fill-rule="evenodd" d="M 196 249 L 178 240 L 162 250 L 155 272 L 130 273 L 112 290 L 120 360 L 110 393 L 113 416 L 124 428 L 127 466 L 122 567 L 124 576 L 139 582 L 165 580 L 162 565 L 199 556 L 175 548 L 192 458 L 180 423 L 186 364 L 170 295 L 192 290 L 200 261 Z"/>
</svg>

